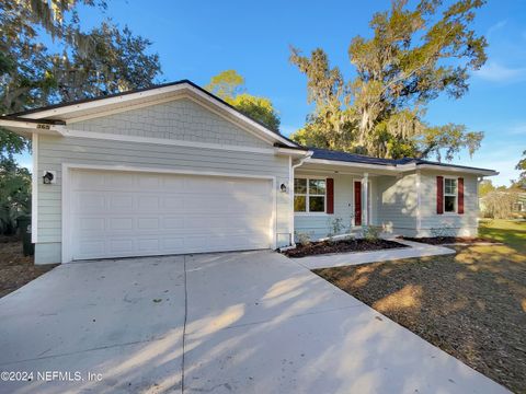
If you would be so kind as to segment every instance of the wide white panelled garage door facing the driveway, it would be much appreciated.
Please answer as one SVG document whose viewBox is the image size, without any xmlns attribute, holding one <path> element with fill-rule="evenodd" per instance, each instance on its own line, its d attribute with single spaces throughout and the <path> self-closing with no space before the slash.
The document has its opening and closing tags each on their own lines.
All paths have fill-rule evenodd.
<svg viewBox="0 0 526 394">
<path fill-rule="evenodd" d="M 270 179 L 71 172 L 72 259 L 271 247 Z"/>
</svg>

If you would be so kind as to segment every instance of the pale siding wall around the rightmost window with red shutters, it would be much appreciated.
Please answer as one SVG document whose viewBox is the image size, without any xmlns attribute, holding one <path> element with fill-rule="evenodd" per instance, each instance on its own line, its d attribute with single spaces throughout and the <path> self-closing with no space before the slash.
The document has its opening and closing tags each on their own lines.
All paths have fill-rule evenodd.
<svg viewBox="0 0 526 394">
<path fill-rule="evenodd" d="M 464 178 L 464 213 L 436 213 L 436 177 Z M 421 227 L 419 236 L 447 233 L 457 236 L 476 236 L 479 215 L 476 175 L 422 172 L 420 175 Z"/>
</svg>

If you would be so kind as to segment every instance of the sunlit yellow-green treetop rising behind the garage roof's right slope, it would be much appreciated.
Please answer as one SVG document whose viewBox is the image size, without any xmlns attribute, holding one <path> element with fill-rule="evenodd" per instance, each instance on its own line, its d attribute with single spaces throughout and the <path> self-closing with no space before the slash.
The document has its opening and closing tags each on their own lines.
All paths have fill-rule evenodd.
<svg viewBox="0 0 526 394">
<path fill-rule="evenodd" d="M 213 77 L 205 89 L 271 130 L 279 131 L 279 116 L 272 101 L 247 93 L 244 78 L 236 70 L 226 70 Z"/>
</svg>

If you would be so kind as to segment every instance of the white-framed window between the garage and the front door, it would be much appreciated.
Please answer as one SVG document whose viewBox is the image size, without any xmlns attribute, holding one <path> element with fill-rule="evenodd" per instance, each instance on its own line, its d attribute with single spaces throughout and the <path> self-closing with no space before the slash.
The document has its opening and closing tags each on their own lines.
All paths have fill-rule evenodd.
<svg viewBox="0 0 526 394">
<path fill-rule="evenodd" d="M 294 211 L 325 211 L 325 179 L 294 179 Z"/>
</svg>

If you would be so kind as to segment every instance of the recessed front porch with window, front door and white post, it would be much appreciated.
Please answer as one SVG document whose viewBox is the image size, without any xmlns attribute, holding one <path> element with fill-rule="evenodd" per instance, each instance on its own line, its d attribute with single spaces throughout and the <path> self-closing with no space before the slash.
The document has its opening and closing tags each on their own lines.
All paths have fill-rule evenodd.
<svg viewBox="0 0 526 394">
<path fill-rule="evenodd" d="M 398 172 L 380 165 L 361 167 L 356 163 L 316 160 L 301 163 L 294 172 L 296 240 L 359 233 L 366 225 L 389 228 L 392 223 L 382 215 L 386 213 L 384 202 L 389 204 L 384 194 L 399 177 Z M 409 188 L 408 185 L 405 194 Z M 411 218 L 412 212 L 407 215 Z"/>
</svg>

